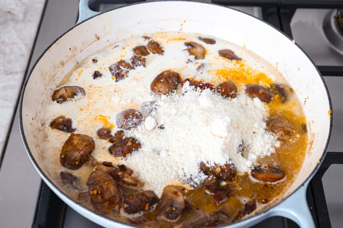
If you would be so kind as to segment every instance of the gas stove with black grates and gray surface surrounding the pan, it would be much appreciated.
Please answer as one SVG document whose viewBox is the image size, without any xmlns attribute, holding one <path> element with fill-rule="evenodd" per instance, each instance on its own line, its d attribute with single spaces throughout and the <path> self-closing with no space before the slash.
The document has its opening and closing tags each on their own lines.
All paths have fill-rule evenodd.
<svg viewBox="0 0 343 228">
<path fill-rule="evenodd" d="M 94 0 L 91 8 L 102 12 L 135 2 L 140 1 Z M 340 30 L 339 16 L 335 15 L 338 12 L 343 14 L 342 10 L 337 10 L 343 9 L 343 1 L 207 0 L 205 2 L 225 5 L 263 19 L 293 38 L 318 66 L 332 99 L 333 130 L 327 157 L 307 189 L 307 201 L 317 227 L 342 227 L 343 51 L 340 50 L 343 47 L 343 27 Z M 75 24 L 77 17 L 78 1 L 47 0 L 29 69 L 52 41 Z M 67 206 L 40 179 L 21 142 L 18 113 L 13 120 L 0 165 L 1 226 L 100 227 Z M 271 217 L 253 227 L 298 226 L 289 219 Z"/>
</svg>

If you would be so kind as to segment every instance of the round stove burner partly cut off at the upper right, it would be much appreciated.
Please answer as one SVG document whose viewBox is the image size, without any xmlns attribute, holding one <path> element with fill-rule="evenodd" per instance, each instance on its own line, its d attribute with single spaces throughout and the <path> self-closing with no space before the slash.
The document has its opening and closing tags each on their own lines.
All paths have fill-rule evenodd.
<svg viewBox="0 0 343 228">
<path fill-rule="evenodd" d="M 323 30 L 333 50 L 343 55 L 343 10 L 332 10 L 324 18 Z"/>
</svg>

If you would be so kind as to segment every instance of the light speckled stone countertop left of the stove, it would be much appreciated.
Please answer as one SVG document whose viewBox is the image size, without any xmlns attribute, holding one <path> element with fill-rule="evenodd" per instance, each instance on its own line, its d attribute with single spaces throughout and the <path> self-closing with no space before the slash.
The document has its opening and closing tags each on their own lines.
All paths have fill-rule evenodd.
<svg viewBox="0 0 343 228">
<path fill-rule="evenodd" d="M 0 155 L 9 133 L 44 3 L 45 0 L 1 0 Z"/>
</svg>

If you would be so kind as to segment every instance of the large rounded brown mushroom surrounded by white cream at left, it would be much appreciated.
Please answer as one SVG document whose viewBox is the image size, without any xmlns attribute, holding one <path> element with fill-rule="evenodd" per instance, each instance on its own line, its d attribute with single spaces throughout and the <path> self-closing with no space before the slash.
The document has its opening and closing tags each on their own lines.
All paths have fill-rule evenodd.
<svg viewBox="0 0 343 228">
<path fill-rule="evenodd" d="M 63 167 L 77 170 L 90 159 L 94 148 L 92 137 L 72 133 L 62 147 L 60 163 Z"/>
</svg>

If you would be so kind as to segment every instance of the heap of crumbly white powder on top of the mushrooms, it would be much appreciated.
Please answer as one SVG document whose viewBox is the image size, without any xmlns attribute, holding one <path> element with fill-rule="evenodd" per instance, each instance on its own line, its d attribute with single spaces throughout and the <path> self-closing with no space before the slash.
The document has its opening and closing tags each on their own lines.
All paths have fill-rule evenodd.
<svg viewBox="0 0 343 228">
<path fill-rule="evenodd" d="M 233 162 L 237 171 L 246 172 L 257 157 L 275 152 L 275 135 L 265 130 L 264 105 L 244 92 L 234 99 L 224 99 L 206 89 L 196 91 L 185 84 L 179 93 L 162 95 L 154 118 L 147 117 L 129 136 L 140 140 L 142 147 L 126 158 L 150 188 L 161 195 L 168 184 L 199 185 L 206 177 L 199 167 Z M 164 125 L 164 129 L 152 127 Z M 148 126 L 148 127 L 147 127 Z M 237 149 L 243 143 L 243 152 Z"/>
</svg>

